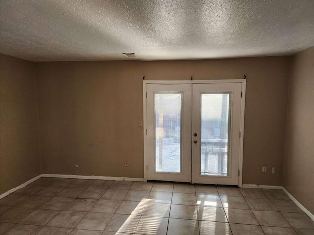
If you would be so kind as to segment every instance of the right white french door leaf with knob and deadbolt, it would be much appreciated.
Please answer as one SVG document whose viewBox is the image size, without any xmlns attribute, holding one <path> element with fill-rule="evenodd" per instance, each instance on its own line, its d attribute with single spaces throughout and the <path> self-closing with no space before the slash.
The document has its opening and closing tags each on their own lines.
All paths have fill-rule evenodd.
<svg viewBox="0 0 314 235">
<path fill-rule="evenodd" d="M 239 184 L 241 89 L 241 83 L 193 84 L 193 183 Z"/>
</svg>

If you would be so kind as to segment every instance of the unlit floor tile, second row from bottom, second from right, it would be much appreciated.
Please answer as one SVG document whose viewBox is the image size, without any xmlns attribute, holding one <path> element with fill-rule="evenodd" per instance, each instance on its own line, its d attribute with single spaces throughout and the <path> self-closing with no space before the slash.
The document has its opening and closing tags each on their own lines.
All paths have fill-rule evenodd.
<svg viewBox="0 0 314 235">
<path fill-rule="evenodd" d="M 252 211 L 262 226 L 290 227 L 285 218 L 277 211 Z"/>
</svg>

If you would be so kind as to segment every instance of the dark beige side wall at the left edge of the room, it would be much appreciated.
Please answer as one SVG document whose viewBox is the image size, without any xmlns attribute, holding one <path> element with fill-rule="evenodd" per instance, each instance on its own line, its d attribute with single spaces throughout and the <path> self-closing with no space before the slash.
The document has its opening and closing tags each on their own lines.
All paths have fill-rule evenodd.
<svg viewBox="0 0 314 235">
<path fill-rule="evenodd" d="M 41 174 L 35 63 L 1 54 L 0 194 Z"/>
</svg>

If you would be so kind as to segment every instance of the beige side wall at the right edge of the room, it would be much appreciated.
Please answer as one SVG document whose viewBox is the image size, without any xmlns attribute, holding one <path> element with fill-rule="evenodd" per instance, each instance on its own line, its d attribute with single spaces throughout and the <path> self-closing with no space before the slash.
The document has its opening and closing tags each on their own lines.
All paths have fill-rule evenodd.
<svg viewBox="0 0 314 235">
<path fill-rule="evenodd" d="M 292 56 L 283 186 L 314 214 L 314 47 Z"/>
</svg>

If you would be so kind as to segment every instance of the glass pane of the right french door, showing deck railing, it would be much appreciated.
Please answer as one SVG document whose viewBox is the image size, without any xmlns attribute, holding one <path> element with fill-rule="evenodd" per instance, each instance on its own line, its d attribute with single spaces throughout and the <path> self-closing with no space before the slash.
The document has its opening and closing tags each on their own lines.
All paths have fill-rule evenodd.
<svg viewBox="0 0 314 235">
<path fill-rule="evenodd" d="M 201 175 L 229 173 L 230 94 L 201 94 Z"/>
</svg>

